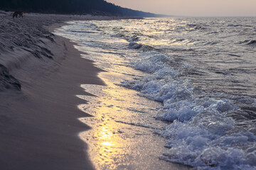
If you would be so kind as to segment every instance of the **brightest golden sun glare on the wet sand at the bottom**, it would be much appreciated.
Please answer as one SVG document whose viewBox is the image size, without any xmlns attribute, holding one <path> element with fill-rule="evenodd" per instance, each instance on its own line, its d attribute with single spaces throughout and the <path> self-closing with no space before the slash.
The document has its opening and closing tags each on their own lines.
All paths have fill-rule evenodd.
<svg viewBox="0 0 256 170">
<path fill-rule="evenodd" d="M 100 98 L 97 98 L 100 99 Z M 111 102 L 111 101 L 110 101 Z M 87 108 L 79 106 L 79 108 Z M 126 145 L 121 137 L 121 128 L 109 115 L 113 108 L 106 102 L 97 107 L 95 117 L 80 118 L 79 120 L 90 125 L 93 130 L 80 133 L 80 138 L 89 143 L 90 159 L 96 169 L 118 169 L 117 159 L 125 153 Z M 91 111 L 90 109 L 86 111 Z M 121 164 L 121 163 L 120 163 Z"/>
</svg>

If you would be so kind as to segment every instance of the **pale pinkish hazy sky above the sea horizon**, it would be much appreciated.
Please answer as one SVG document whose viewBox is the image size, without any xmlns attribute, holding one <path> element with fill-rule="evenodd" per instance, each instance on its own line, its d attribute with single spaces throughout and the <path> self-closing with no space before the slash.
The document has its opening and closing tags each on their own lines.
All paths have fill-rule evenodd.
<svg viewBox="0 0 256 170">
<path fill-rule="evenodd" d="M 146 12 L 174 16 L 256 16 L 256 0 L 107 0 Z"/>
</svg>

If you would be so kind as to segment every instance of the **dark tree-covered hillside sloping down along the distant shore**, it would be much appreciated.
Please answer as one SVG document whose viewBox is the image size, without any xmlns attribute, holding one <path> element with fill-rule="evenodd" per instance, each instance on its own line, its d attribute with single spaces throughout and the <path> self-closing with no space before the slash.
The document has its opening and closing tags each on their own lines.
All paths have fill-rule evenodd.
<svg viewBox="0 0 256 170">
<path fill-rule="evenodd" d="M 1 0 L 0 9 L 36 13 L 105 14 L 112 16 L 156 16 L 154 13 L 122 8 L 104 0 Z"/>
</svg>

